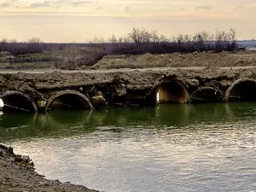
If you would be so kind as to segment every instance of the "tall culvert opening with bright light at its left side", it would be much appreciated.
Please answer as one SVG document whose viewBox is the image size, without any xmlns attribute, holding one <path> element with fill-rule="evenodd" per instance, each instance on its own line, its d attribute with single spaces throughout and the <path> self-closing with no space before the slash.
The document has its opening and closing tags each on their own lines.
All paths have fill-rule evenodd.
<svg viewBox="0 0 256 192">
<path fill-rule="evenodd" d="M 184 103 L 188 101 L 188 92 L 183 84 L 178 81 L 166 81 L 159 85 L 155 93 L 155 102 Z"/>
</svg>

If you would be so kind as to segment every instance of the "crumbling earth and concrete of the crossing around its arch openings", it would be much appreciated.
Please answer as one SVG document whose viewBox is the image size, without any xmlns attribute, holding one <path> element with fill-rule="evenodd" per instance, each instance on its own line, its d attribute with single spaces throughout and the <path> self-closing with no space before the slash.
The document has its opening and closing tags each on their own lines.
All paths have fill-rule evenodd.
<svg viewBox="0 0 256 192">
<path fill-rule="evenodd" d="M 186 100 L 195 90 L 203 87 L 218 90 L 229 101 L 230 91 L 239 79 L 256 79 L 255 67 L 193 67 L 193 68 L 143 68 L 140 70 L 107 70 L 52 73 L 2 73 L 0 94 L 20 91 L 35 103 L 45 103 L 60 91 L 73 90 L 91 102 L 97 93 L 111 105 L 154 105 L 156 90 L 163 82 L 183 82 Z M 231 86 L 231 87 L 230 87 Z M 170 88 L 172 89 L 172 88 Z M 254 94 L 247 89 L 247 96 Z M 250 93 L 252 92 L 252 93 Z M 92 102 L 91 102 L 92 103 Z M 42 110 L 42 106 L 40 107 Z"/>
</svg>

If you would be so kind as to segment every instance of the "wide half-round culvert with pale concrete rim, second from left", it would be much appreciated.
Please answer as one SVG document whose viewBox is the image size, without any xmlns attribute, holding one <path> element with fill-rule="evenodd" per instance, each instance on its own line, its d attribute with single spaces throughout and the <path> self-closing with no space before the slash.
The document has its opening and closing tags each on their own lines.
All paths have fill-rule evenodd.
<svg viewBox="0 0 256 192">
<path fill-rule="evenodd" d="M 77 90 L 61 90 L 51 96 L 46 103 L 45 111 L 55 109 L 92 109 L 93 105 L 87 96 Z"/>
</svg>

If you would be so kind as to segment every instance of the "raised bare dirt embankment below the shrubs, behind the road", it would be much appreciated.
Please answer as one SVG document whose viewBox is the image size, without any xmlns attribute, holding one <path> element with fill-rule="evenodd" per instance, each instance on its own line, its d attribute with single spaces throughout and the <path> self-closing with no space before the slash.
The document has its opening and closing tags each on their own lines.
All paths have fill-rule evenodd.
<svg viewBox="0 0 256 192">
<path fill-rule="evenodd" d="M 145 67 L 237 67 L 256 64 L 256 51 L 223 51 L 221 53 L 195 52 L 162 55 L 107 55 L 91 68 L 145 68 Z M 86 68 L 86 67 L 84 67 Z"/>
</svg>

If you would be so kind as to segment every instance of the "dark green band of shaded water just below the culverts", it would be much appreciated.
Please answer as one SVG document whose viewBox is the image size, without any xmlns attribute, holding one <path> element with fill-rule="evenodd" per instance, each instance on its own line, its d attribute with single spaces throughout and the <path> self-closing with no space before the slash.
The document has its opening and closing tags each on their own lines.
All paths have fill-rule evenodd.
<svg viewBox="0 0 256 192">
<path fill-rule="evenodd" d="M 4 113 L 0 116 L 1 140 L 26 137 L 70 137 L 99 127 L 172 128 L 200 122 L 215 124 L 252 118 L 256 103 L 164 104 L 149 108 L 110 108 L 102 111 Z M 114 128 L 118 127 L 118 128 Z"/>
</svg>

